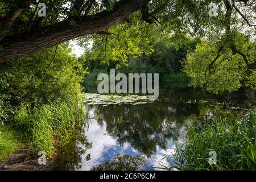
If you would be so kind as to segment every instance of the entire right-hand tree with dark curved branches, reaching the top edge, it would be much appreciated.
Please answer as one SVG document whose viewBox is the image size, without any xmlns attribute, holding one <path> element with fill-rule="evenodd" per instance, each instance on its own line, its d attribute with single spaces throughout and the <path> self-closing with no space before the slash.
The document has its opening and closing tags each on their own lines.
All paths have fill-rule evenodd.
<svg viewBox="0 0 256 182">
<path fill-rule="evenodd" d="M 203 35 L 204 40 L 195 52 L 189 52 L 185 72 L 192 77 L 193 86 L 216 94 L 233 92 L 242 86 L 256 90 L 256 3 L 215 3 L 214 16 L 207 9 L 199 11 L 198 6 L 191 5 L 194 8 L 187 11 L 187 15 L 199 11 L 189 22 L 195 27 L 193 33 Z"/>
</svg>

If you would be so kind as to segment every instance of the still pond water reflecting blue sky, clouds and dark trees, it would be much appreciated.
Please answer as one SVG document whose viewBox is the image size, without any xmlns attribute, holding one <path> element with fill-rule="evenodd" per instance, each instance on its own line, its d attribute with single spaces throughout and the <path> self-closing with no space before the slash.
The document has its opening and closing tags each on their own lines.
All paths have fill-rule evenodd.
<svg viewBox="0 0 256 182">
<path fill-rule="evenodd" d="M 217 97 L 200 90 L 170 87 L 162 88 L 158 100 L 147 104 L 89 106 L 90 119 L 83 134 L 91 145 L 83 151 L 81 142 L 71 144 L 73 148 L 64 149 L 58 160 L 62 164 L 56 163 L 54 169 L 90 170 L 118 154 L 143 156 L 147 162 L 140 168 L 143 170 L 168 166 L 165 157 L 173 160 L 174 143 L 183 143 L 186 126 L 208 122 L 216 105 L 238 112 L 249 107 L 246 96 L 240 93 Z"/>
</svg>

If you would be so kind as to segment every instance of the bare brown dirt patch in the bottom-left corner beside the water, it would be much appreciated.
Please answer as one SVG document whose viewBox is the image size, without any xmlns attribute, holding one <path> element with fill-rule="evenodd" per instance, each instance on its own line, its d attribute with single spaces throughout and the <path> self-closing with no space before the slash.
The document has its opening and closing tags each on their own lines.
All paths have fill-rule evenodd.
<svg viewBox="0 0 256 182">
<path fill-rule="evenodd" d="M 9 158 L 0 162 L 0 171 L 44 171 L 47 166 L 38 164 L 38 157 L 28 153 L 26 149 L 19 149 Z"/>
</svg>

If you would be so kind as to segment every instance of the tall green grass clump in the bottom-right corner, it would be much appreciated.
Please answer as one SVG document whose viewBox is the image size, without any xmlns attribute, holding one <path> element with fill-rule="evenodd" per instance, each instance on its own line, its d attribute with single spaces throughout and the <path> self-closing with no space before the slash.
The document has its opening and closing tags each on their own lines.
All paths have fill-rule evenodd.
<svg viewBox="0 0 256 182">
<path fill-rule="evenodd" d="M 191 126 L 187 142 L 177 146 L 175 163 L 180 170 L 256 170 L 256 111 L 245 117 L 221 113 L 203 129 Z M 209 164 L 216 151 L 217 165 Z"/>
</svg>

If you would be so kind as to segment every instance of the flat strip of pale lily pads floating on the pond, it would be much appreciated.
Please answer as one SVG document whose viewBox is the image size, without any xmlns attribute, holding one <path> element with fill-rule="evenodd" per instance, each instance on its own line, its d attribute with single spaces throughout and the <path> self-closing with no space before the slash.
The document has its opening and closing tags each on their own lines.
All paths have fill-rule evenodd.
<svg viewBox="0 0 256 182">
<path fill-rule="evenodd" d="M 108 105 L 122 105 L 122 104 L 147 104 L 148 102 L 154 102 L 154 99 L 149 99 L 148 96 L 128 95 L 128 96 L 116 96 L 116 95 L 102 95 L 96 93 L 85 94 L 85 100 L 88 105 L 102 105 L 104 107 Z"/>
</svg>

